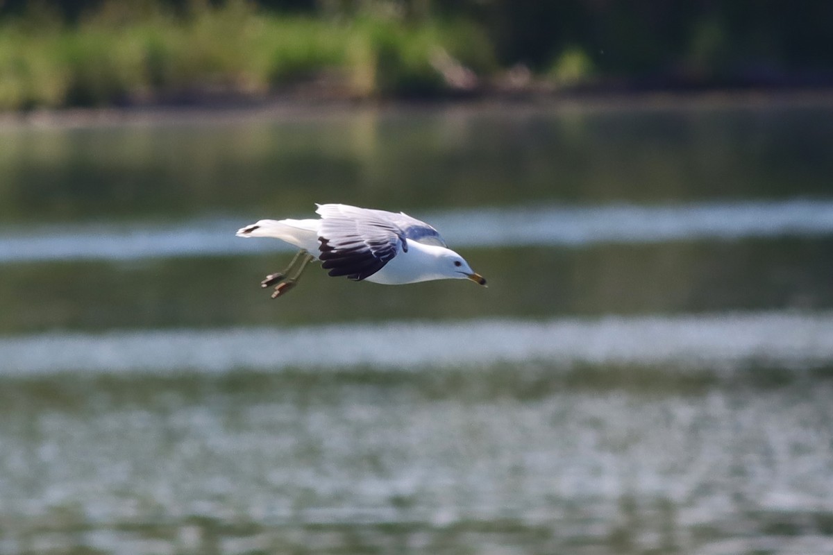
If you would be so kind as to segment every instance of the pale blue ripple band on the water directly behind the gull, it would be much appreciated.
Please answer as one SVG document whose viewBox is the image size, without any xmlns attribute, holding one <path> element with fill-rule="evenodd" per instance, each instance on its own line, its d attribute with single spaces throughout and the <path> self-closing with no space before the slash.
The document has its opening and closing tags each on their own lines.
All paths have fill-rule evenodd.
<svg viewBox="0 0 833 555">
<path fill-rule="evenodd" d="M 160 225 L 27 226 L 0 231 L 0 262 L 136 260 L 289 250 L 277 240 L 241 240 L 260 217 Z M 298 216 L 298 215 L 286 215 Z M 680 206 L 545 206 L 417 214 L 456 249 L 833 234 L 833 201 L 747 201 Z"/>
</svg>

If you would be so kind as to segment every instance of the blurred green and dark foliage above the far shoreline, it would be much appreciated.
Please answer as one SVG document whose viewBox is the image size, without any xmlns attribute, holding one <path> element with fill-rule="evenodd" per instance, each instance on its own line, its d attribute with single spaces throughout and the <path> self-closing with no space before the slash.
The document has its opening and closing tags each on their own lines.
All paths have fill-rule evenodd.
<svg viewBox="0 0 833 555">
<path fill-rule="evenodd" d="M 833 2 L 0 0 L 0 109 L 833 85 Z"/>
</svg>

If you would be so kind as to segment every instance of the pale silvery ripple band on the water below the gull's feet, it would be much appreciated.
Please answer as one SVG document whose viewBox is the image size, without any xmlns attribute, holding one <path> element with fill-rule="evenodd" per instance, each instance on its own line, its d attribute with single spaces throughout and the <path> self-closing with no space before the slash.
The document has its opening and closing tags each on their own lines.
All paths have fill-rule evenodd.
<svg viewBox="0 0 833 555">
<path fill-rule="evenodd" d="M 472 320 L 0 338 L 0 375 L 234 369 L 476 368 L 496 363 L 790 368 L 833 359 L 833 312 Z"/>
</svg>

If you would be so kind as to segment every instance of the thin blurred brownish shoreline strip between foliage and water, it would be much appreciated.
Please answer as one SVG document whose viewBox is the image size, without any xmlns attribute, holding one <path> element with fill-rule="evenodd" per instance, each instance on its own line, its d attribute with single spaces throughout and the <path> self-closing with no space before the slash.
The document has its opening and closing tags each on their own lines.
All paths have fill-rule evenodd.
<svg viewBox="0 0 833 555">
<path fill-rule="evenodd" d="M 75 127 L 219 123 L 247 119 L 308 119 L 353 111 L 655 111 L 743 107 L 829 107 L 833 88 L 744 88 L 551 92 L 533 88 L 433 99 L 356 99 L 299 90 L 269 97 L 199 95 L 187 102 L 122 107 L 72 107 L 0 112 L 0 130 L 21 126 Z"/>
</svg>

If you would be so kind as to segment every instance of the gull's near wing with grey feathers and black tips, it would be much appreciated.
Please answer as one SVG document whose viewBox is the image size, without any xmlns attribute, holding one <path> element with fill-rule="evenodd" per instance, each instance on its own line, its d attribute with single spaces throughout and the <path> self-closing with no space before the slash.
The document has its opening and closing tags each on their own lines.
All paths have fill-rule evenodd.
<svg viewBox="0 0 833 555">
<path fill-rule="evenodd" d="M 406 234 L 382 211 L 356 206 L 319 205 L 318 258 L 329 275 L 364 280 L 382 270 L 397 253 L 407 251 Z"/>
</svg>

